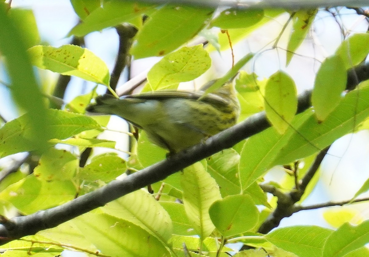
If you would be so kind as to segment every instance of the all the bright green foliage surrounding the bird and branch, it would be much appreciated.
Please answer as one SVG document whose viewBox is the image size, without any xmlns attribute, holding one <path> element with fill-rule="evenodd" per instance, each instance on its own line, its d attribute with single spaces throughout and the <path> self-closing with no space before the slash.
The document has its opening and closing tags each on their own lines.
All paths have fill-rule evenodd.
<svg viewBox="0 0 369 257">
<path fill-rule="evenodd" d="M 71 0 L 81 22 L 69 35 L 84 37 L 124 22 L 135 26 L 138 33 L 130 46 L 132 57 L 163 56 L 148 72 L 143 91 L 177 88 L 179 83 L 209 76 L 214 49 L 231 49 L 230 43 L 235 44 L 262 25 L 270 25 L 272 18 L 279 15 L 290 17 L 286 22 L 292 24 L 292 28 L 280 31 L 280 35 L 289 33 L 285 62 L 288 66 L 314 26 L 316 15 L 324 11 L 227 9 L 215 15 L 215 10 L 209 8 L 118 0 L 102 3 L 100 6 L 100 1 Z M 97 138 L 110 117 L 85 114 L 87 105 L 96 97 L 96 88 L 60 110 L 50 109 L 46 99 L 53 98 L 41 92 L 31 64 L 93 81 L 115 94 L 110 88 L 113 75 L 104 61 L 87 48 L 72 44 L 58 48 L 38 45 L 33 14 L 8 7 L 7 3 L 0 4 L 0 52 L 4 57 L 1 61 L 6 63 L 13 104 L 24 114 L 1 126 L 0 157 L 28 152 L 39 156 L 39 160 L 27 175 L 21 176 L 25 168 L 18 167 L 15 175 L 0 182 L 2 215 L 13 209 L 29 215 L 62 205 L 98 190 L 121 174 L 127 178 L 130 173 L 166 158 L 165 150 L 139 131 L 137 142 L 133 137 L 136 134 L 129 133 L 133 142 L 127 160 L 111 152 L 90 156 L 88 164 L 81 165 L 89 147 L 117 150 L 114 141 Z M 24 26 L 26 20 L 30 21 L 29 26 Z M 199 34 L 207 35 L 213 45 L 187 45 Z M 278 41 L 279 38 L 273 42 L 272 49 Z M 235 80 L 241 105 L 239 122 L 265 111 L 272 127 L 157 181 L 151 185 L 154 194 L 137 190 L 62 224 L 56 220 L 55 225 L 59 225 L 55 228 L 2 245 L 6 251 L 0 256 L 55 256 L 64 249 L 89 256 L 228 256 L 231 249 L 227 243 L 235 242 L 255 247 L 235 256 L 368 255 L 364 247 L 369 243 L 368 221 L 357 226 L 339 224 L 337 230 L 276 225 L 272 232 L 269 229 L 261 233 L 270 213 L 283 206 L 283 213 L 287 214 L 282 218 L 301 211 L 296 202 L 310 194 L 317 177 L 311 177 L 307 185 L 300 180 L 307 179 L 305 175 L 315 157 L 326 154 L 323 149 L 338 138 L 365 129 L 359 125 L 369 117 L 368 83 L 364 81 L 345 94 L 343 91 L 347 70 L 366 58 L 368 42 L 367 33 L 354 33 L 323 60 L 316 72 L 312 108 L 298 114 L 296 83 L 286 69 L 280 67 L 261 80 L 254 70 L 239 72 L 246 63 L 259 58 L 261 52 L 238 58 L 240 61 L 207 93 L 239 72 Z M 299 167 L 302 162 L 305 168 Z M 284 182 L 262 183 L 276 166 L 284 168 Z M 363 184 L 355 198 L 368 191 L 368 184 Z M 278 198 L 277 203 L 267 192 Z M 352 214 L 342 213 L 343 220 Z M 332 221 L 335 216 L 327 217 Z"/>
</svg>

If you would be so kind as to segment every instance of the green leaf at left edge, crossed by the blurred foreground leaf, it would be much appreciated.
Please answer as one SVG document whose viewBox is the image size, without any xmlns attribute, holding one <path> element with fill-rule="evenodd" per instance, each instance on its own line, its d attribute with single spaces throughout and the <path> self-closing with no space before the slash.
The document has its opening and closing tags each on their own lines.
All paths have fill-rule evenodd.
<svg viewBox="0 0 369 257">
<path fill-rule="evenodd" d="M 49 118 L 45 129 L 54 130 L 54 136 L 58 139 L 66 139 L 89 129 L 101 128 L 94 119 L 85 115 L 53 109 L 46 110 L 45 114 Z M 33 136 L 32 124 L 29 122 L 31 117 L 30 113 L 24 114 L 0 128 L 1 157 L 37 149 L 37 145 L 31 141 Z"/>
</svg>

